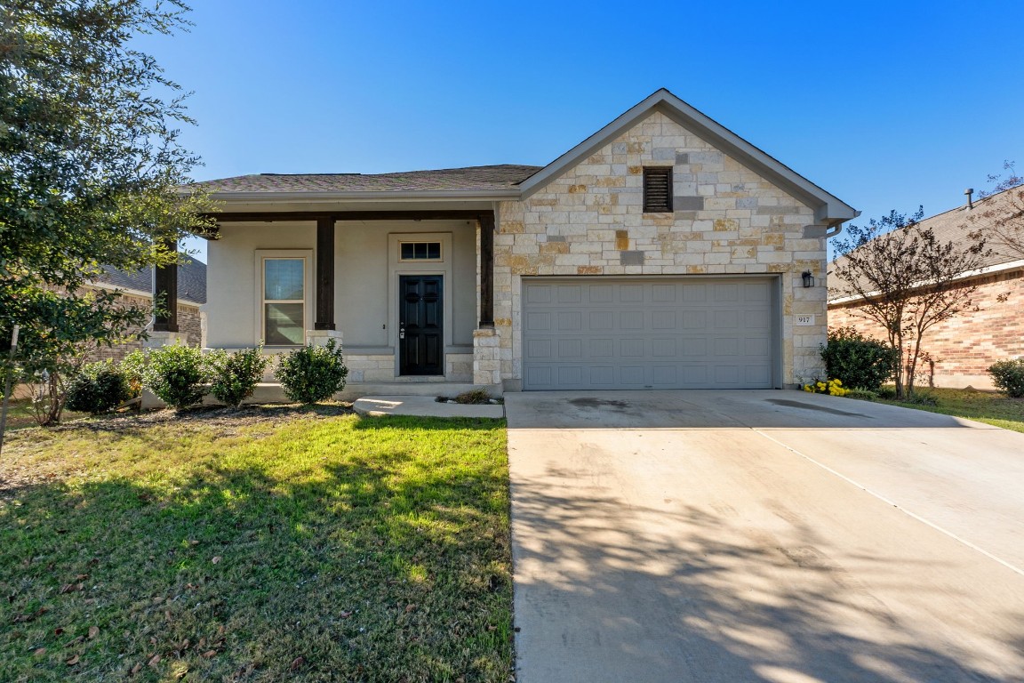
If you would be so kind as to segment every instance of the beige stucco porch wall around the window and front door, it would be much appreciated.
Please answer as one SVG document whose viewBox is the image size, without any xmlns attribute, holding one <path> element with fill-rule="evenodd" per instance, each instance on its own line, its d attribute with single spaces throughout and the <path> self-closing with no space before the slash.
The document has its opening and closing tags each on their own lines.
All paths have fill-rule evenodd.
<svg viewBox="0 0 1024 683">
<path fill-rule="evenodd" d="M 451 253 L 445 253 L 442 264 L 398 264 L 389 236 L 411 234 L 428 239 L 450 236 Z M 475 222 L 465 220 L 339 221 L 335 234 L 335 324 L 344 335 L 345 348 L 352 354 L 366 349 L 375 361 L 387 349 L 393 356 L 398 273 L 443 270 L 449 274 L 444 296 L 451 302 L 445 339 L 449 346 L 465 346 L 461 352 L 469 353 L 476 324 L 475 240 Z M 207 343 L 231 348 L 252 346 L 257 341 L 257 251 L 295 249 L 314 254 L 315 245 L 312 222 L 221 225 L 220 239 L 208 248 Z M 313 259 L 309 267 L 314 267 Z M 308 296 L 311 303 L 312 291 Z M 312 323 L 310 314 L 310 328 Z M 460 370 L 465 375 L 461 366 Z"/>
</svg>

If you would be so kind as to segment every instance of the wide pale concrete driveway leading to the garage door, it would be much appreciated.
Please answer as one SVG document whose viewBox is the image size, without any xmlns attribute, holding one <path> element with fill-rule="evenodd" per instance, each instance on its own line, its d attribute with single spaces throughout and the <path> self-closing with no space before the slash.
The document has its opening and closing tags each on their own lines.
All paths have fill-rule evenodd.
<svg viewBox="0 0 1024 683">
<path fill-rule="evenodd" d="M 1024 434 L 797 391 L 505 405 L 519 683 L 1024 681 Z"/>
</svg>

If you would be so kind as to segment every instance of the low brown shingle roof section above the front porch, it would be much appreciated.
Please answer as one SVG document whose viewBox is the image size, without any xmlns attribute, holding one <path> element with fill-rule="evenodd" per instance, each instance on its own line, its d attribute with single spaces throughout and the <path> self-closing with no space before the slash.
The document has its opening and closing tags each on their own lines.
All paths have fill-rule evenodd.
<svg viewBox="0 0 1024 683">
<path fill-rule="evenodd" d="M 260 173 L 195 183 L 211 193 L 389 193 L 512 189 L 540 166 L 470 166 L 400 173 Z"/>
</svg>

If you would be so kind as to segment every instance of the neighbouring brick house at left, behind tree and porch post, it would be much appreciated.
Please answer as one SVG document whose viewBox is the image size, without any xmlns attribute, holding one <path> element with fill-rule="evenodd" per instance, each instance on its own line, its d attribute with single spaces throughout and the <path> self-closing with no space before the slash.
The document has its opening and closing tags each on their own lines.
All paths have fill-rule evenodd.
<svg viewBox="0 0 1024 683">
<path fill-rule="evenodd" d="M 125 305 L 152 306 L 154 270 L 147 268 L 137 272 L 126 272 L 108 267 L 102 275 L 88 287 L 118 290 Z M 202 346 L 203 319 L 200 307 L 206 303 L 206 264 L 193 258 L 183 258 L 177 267 L 178 281 L 178 327 L 186 335 L 191 346 Z M 88 289 L 87 287 L 87 289 Z M 147 327 L 152 327 L 152 324 Z M 135 338 L 115 346 L 98 346 L 93 355 L 98 360 L 113 358 L 120 360 L 131 350 L 141 348 L 142 340 Z"/>
</svg>

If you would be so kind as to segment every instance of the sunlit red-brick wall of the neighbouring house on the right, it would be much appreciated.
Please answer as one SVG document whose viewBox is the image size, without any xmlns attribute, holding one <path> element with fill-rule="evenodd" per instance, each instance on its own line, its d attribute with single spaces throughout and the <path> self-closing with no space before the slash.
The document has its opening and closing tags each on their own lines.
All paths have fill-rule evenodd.
<svg viewBox="0 0 1024 683">
<path fill-rule="evenodd" d="M 978 286 L 974 301 L 981 310 L 936 325 L 922 348 L 934 366 L 932 381 L 939 387 L 993 388 L 987 369 L 996 360 L 1024 356 L 1024 269 L 972 281 Z M 1006 296 L 1006 301 L 999 297 Z M 863 334 L 885 339 L 885 332 L 857 313 L 859 306 L 829 306 L 828 327 L 852 326 Z"/>
</svg>

